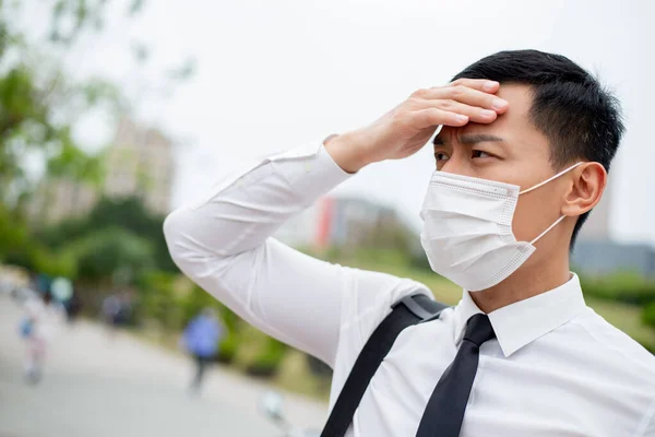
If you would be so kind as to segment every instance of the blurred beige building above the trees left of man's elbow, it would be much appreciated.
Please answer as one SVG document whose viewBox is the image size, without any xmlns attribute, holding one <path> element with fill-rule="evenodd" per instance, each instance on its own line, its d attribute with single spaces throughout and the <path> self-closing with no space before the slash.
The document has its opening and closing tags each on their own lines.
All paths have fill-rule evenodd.
<svg viewBox="0 0 655 437">
<path fill-rule="evenodd" d="M 100 198 L 139 196 L 158 214 L 170 210 L 175 165 L 172 144 L 162 132 L 123 118 L 112 144 L 106 151 L 105 180 L 97 188 L 60 178 L 48 180 L 31 205 L 33 218 L 57 223 L 87 214 Z"/>
</svg>

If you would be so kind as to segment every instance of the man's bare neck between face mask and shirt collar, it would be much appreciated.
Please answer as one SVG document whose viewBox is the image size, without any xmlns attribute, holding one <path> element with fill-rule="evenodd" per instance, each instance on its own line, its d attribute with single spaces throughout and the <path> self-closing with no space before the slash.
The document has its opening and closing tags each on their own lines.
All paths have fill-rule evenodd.
<svg viewBox="0 0 655 437">
<path fill-rule="evenodd" d="M 500 284 L 480 292 L 471 292 L 473 302 L 485 314 L 546 293 L 570 279 L 569 252 L 552 256 L 534 265 L 522 265 Z"/>
</svg>

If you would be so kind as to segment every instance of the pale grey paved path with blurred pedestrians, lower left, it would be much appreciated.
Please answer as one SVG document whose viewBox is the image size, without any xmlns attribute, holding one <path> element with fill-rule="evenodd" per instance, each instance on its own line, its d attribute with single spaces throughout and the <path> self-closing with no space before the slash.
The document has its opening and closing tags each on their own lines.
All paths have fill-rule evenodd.
<svg viewBox="0 0 655 437">
<path fill-rule="evenodd" d="M 277 436 L 257 411 L 267 389 L 219 368 L 203 394 L 186 391 L 190 363 L 181 355 L 94 323 L 63 327 L 50 346 L 45 378 L 22 378 L 20 310 L 0 296 L 0 437 Z M 320 427 L 325 405 L 285 394 L 297 424 Z"/>
</svg>

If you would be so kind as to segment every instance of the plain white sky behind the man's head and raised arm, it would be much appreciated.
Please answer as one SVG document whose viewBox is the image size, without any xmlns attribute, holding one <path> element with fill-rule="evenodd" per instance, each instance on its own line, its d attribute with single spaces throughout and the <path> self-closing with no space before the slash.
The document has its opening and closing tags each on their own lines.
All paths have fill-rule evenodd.
<svg viewBox="0 0 655 437">
<path fill-rule="evenodd" d="M 138 106 L 177 141 L 179 205 L 240 160 L 370 122 L 486 55 L 560 52 L 596 71 L 623 104 L 628 133 L 610 174 L 612 236 L 655 244 L 653 16 L 646 0 L 151 0 L 136 21 L 115 22 L 70 64 L 129 91 L 150 83 L 158 66 L 196 58 L 188 83 Z M 153 48 L 152 68 L 139 76 L 126 50 L 133 39 Z M 95 118 L 81 132 L 97 143 L 108 129 Z M 419 223 L 432 168 L 425 147 L 372 165 L 338 190 L 395 204 Z"/>
</svg>

